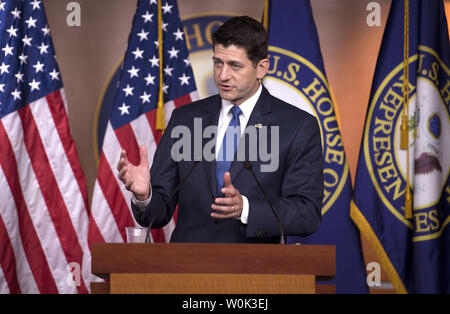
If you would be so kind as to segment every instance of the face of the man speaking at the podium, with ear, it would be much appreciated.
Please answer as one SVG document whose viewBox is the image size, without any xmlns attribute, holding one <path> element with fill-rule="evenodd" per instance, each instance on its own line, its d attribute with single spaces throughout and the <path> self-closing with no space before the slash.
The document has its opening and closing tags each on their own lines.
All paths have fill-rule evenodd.
<svg viewBox="0 0 450 314">
<path fill-rule="evenodd" d="M 256 67 L 248 59 L 244 48 L 221 44 L 214 46 L 214 82 L 220 96 L 240 105 L 258 90 L 258 79 L 267 73 L 269 61 L 263 59 Z"/>
</svg>

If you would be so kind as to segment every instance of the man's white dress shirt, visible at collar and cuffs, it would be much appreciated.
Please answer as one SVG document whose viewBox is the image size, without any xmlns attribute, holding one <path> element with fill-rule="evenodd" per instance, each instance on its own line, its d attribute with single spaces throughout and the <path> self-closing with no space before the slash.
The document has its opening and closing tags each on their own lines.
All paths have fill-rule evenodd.
<svg viewBox="0 0 450 314">
<path fill-rule="evenodd" d="M 239 115 L 239 123 L 241 125 L 241 136 L 245 132 L 245 128 L 247 127 L 248 120 L 250 119 L 250 115 L 252 114 L 253 108 L 256 105 L 256 102 L 258 101 L 259 96 L 262 92 L 262 86 L 259 85 L 258 90 L 256 93 L 251 96 L 249 99 L 244 101 L 242 104 L 239 105 L 239 108 L 242 111 L 242 114 Z M 223 142 L 223 137 L 225 136 L 225 132 L 227 130 L 228 125 L 230 124 L 231 119 L 233 118 L 233 115 L 230 112 L 231 107 L 234 106 L 231 102 L 228 100 L 222 99 L 222 108 L 220 109 L 219 114 L 219 122 L 217 125 L 217 136 L 216 136 L 216 159 L 220 152 L 220 147 Z M 233 183 L 233 182 L 232 182 Z M 150 186 L 151 191 L 151 186 Z M 243 209 L 241 213 L 241 217 L 237 218 L 240 219 L 242 223 L 247 224 L 248 221 L 248 212 L 249 212 L 249 203 L 247 197 L 242 195 L 243 199 Z M 145 200 L 145 201 L 139 201 L 134 197 L 134 194 L 132 196 L 132 202 L 141 210 L 144 210 L 145 207 L 150 203 L 152 196 Z"/>
</svg>

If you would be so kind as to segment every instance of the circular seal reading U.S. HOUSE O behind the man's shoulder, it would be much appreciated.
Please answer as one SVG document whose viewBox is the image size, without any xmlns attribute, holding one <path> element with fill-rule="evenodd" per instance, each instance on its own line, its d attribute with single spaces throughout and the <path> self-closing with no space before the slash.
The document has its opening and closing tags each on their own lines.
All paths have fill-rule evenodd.
<svg viewBox="0 0 450 314">
<path fill-rule="evenodd" d="M 325 161 L 324 215 L 336 202 L 349 172 L 330 88 L 314 64 L 292 51 L 270 46 L 269 60 L 264 86 L 273 96 L 314 115 L 319 122 Z"/>
</svg>

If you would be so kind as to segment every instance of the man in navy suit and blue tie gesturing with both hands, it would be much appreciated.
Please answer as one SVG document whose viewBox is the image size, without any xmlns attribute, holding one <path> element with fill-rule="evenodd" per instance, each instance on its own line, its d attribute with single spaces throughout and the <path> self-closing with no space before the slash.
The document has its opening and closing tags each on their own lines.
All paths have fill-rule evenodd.
<svg viewBox="0 0 450 314">
<path fill-rule="evenodd" d="M 279 242 L 279 224 L 252 173 L 244 169 L 247 160 L 285 234 L 313 233 L 321 221 L 323 198 L 322 145 L 315 117 L 271 96 L 262 86 L 269 60 L 267 33 L 261 23 L 235 17 L 212 39 L 219 95 L 173 111 L 151 171 L 145 147 L 140 148 L 139 165 L 132 165 L 125 152 L 121 154 L 118 176 L 133 192 L 136 220 L 147 226 L 157 215 L 152 227 L 160 228 L 170 221 L 178 204 L 172 242 Z M 198 137 L 198 125 L 214 130 L 201 132 L 200 150 L 195 148 L 195 138 L 183 138 L 186 145 L 180 146 L 181 131 Z M 270 160 L 261 154 L 255 158 L 261 147 L 271 148 Z M 208 152 L 212 160 L 206 158 Z"/>
</svg>

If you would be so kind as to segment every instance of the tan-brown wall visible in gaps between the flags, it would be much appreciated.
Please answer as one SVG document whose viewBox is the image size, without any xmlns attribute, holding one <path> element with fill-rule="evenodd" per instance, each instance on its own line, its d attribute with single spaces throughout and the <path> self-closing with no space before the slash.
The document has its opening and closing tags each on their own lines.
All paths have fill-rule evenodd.
<svg viewBox="0 0 450 314">
<path fill-rule="evenodd" d="M 78 0 L 81 27 L 66 24 L 69 0 L 44 0 L 69 106 L 70 126 L 86 175 L 89 199 L 95 183 L 93 127 L 102 87 L 126 49 L 136 0 Z M 390 0 L 381 5 L 381 26 L 366 24 L 362 0 L 312 0 L 326 72 L 340 113 L 352 181 L 356 172 L 372 76 Z M 260 18 L 264 0 L 178 0 L 181 17 L 231 12 Z M 449 14 L 450 2 L 446 2 Z M 363 241 L 366 261 L 376 260 Z M 385 277 L 385 276 L 383 276 Z"/>
</svg>

